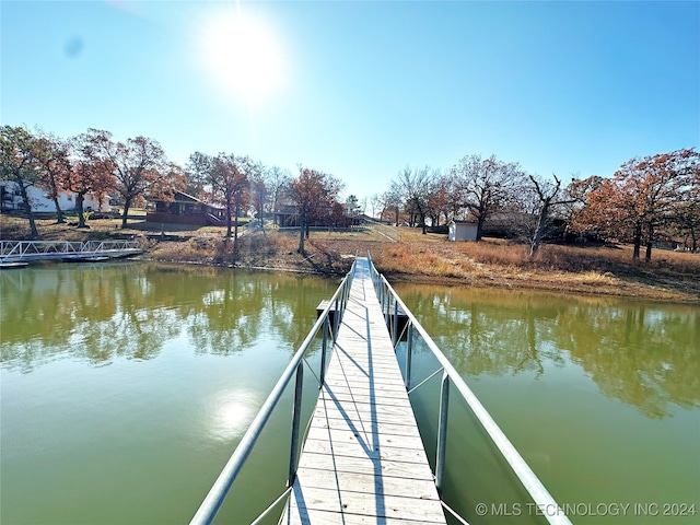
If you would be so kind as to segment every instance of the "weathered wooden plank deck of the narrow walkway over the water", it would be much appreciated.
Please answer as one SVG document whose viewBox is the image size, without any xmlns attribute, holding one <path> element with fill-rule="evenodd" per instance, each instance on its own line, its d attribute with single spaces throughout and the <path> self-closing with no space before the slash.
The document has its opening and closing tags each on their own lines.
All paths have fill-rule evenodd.
<svg viewBox="0 0 700 525">
<path fill-rule="evenodd" d="M 366 258 L 357 260 L 281 523 L 445 523 Z"/>
</svg>

